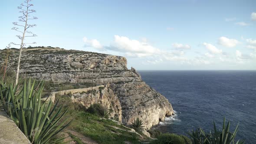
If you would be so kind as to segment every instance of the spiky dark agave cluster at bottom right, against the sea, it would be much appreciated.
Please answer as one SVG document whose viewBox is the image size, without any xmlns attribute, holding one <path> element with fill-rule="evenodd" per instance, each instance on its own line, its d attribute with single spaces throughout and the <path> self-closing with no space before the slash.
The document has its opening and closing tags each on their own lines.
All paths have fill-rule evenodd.
<svg viewBox="0 0 256 144">
<path fill-rule="evenodd" d="M 216 124 L 213 121 L 213 131 L 210 131 L 209 134 L 205 134 L 201 128 L 197 129 L 197 131 L 192 130 L 188 134 L 192 144 L 244 144 L 245 140 L 238 140 L 235 143 L 238 126 L 239 124 L 236 125 L 234 132 L 230 132 L 230 121 L 226 125 L 226 118 L 224 117 L 221 131 L 216 128 Z"/>
</svg>

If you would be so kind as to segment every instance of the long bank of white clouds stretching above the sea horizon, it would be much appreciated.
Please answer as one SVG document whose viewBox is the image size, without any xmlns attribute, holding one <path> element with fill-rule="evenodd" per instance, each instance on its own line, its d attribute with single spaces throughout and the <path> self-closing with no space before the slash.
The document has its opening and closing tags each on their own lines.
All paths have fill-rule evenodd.
<svg viewBox="0 0 256 144">
<path fill-rule="evenodd" d="M 248 45 L 246 47 L 254 49 L 249 55 L 242 54 L 240 50 L 234 50 L 232 53 L 223 52 L 222 49 L 217 48 L 211 43 L 202 43 L 205 49 L 203 52 L 194 52 L 195 55 L 187 55 L 191 53 L 191 46 L 188 44 L 174 43 L 172 47 L 175 49 L 159 49 L 151 45 L 148 40 L 130 39 L 126 36 L 115 35 L 112 43 L 108 46 L 102 45 L 97 39 L 83 38 L 85 47 L 92 47 L 98 51 L 117 52 L 118 55 L 128 58 L 138 58 L 143 61 L 143 64 L 158 64 L 163 62 L 173 62 L 174 64 L 189 64 L 189 65 L 209 65 L 216 62 L 230 62 L 230 63 L 245 63 L 251 59 L 256 58 L 256 40 L 246 39 Z M 220 37 L 218 43 L 222 46 L 232 48 L 237 46 L 240 42 L 236 39 L 227 37 Z M 186 51 L 190 49 L 190 51 Z M 204 53 L 204 54 L 202 54 Z"/>
</svg>

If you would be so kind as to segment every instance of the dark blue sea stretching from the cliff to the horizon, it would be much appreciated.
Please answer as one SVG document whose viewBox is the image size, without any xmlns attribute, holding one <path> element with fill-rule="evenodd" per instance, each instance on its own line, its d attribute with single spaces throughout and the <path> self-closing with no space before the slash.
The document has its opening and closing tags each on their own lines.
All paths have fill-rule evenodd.
<svg viewBox="0 0 256 144">
<path fill-rule="evenodd" d="M 175 111 L 154 129 L 185 135 L 197 128 L 209 132 L 213 120 L 221 129 L 225 116 L 231 131 L 239 123 L 236 139 L 256 144 L 256 71 L 138 72 Z"/>
</svg>

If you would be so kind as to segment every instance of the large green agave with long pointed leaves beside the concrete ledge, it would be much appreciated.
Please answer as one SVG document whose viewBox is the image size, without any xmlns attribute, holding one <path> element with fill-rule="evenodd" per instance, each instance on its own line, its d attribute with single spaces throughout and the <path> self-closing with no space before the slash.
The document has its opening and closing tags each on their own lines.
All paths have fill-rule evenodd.
<svg viewBox="0 0 256 144">
<path fill-rule="evenodd" d="M 42 91 L 43 83 L 39 85 L 39 90 L 35 90 L 35 81 L 31 85 L 30 79 L 28 84 L 24 82 L 19 93 L 17 86 L 0 85 L 3 108 L 33 144 L 50 143 L 71 122 L 67 123 L 68 119 L 61 121 L 67 110 L 62 112 L 62 107 L 57 108 L 58 101 L 53 108 L 52 101 L 41 104 Z"/>
</svg>

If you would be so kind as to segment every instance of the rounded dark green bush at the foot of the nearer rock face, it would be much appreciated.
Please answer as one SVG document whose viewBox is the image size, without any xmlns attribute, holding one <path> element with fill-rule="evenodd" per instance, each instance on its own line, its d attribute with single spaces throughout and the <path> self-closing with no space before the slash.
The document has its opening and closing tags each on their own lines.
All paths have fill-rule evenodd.
<svg viewBox="0 0 256 144">
<path fill-rule="evenodd" d="M 100 104 L 92 104 L 87 111 L 93 115 L 98 115 L 103 118 L 109 118 L 108 108 Z"/>
</svg>

